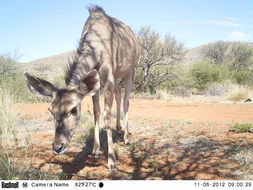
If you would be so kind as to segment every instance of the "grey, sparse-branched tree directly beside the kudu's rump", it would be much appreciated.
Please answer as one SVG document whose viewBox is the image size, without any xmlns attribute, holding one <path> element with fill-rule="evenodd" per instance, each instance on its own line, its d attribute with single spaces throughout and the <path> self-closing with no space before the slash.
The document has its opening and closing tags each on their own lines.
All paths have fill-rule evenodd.
<svg viewBox="0 0 253 190">
<path fill-rule="evenodd" d="M 137 66 L 135 91 L 154 95 L 162 83 L 175 79 L 170 67 L 179 63 L 185 54 L 183 44 L 167 34 L 164 40 L 149 27 L 142 27 L 136 33 L 141 56 Z"/>
</svg>

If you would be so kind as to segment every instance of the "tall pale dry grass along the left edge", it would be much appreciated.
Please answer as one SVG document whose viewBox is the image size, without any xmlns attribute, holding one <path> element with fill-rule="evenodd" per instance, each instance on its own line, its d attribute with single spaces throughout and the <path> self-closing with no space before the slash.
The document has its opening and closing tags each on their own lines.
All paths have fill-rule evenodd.
<svg viewBox="0 0 253 190">
<path fill-rule="evenodd" d="M 20 112 L 15 107 L 17 97 L 8 88 L 0 88 L 0 178 L 21 179 L 27 173 L 27 166 L 21 164 L 20 151 L 14 124 Z M 25 169 L 26 168 L 26 169 Z"/>
</svg>

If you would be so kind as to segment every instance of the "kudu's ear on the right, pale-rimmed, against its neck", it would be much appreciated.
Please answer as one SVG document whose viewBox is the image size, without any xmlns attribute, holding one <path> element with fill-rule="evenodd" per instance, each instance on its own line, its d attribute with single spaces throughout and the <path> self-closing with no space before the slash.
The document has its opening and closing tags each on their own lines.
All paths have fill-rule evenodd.
<svg viewBox="0 0 253 190">
<path fill-rule="evenodd" d="M 88 72 L 78 86 L 78 90 L 82 96 L 94 96 L 100 88 L 100 77 L 96 69 Z"/>
</svg>

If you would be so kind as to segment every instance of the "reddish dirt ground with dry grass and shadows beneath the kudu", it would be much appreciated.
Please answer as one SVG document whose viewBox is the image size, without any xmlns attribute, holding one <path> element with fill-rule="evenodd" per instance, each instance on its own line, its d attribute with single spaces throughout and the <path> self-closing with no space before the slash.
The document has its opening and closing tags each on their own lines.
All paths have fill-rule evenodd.
<svg viewBox="0 0 253 190">
<path fill-rule="evenodd" d="M 81 129 L 69 150 L 56 156 L 51 150 L 54 127 L 49 104 L 18 107 L 24 122 L 30 122 L 26 125 L 31 131 L 33 163 L 41 171 L 64 173 L 68 179 L 253 179 L 253 134 L 229 132 L 236 122 L 253 121 L 251 104 L 131 99 L 131 144 L 124 145 L 123 134 L 114 132 L 118 157 L 114 174 L 107 171 L 103 130 L 99 159 L 90 154 L 92 135 L 80 143 Z M 90 98 L 82 107 L 92 113 Z"/>
</svg>

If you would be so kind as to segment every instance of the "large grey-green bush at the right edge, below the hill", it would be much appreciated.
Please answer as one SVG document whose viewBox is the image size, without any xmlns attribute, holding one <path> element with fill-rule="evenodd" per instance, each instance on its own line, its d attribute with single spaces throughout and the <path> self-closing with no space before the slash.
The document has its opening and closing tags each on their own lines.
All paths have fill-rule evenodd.
<svg viewBox="0 0 253 190">
<path fill-rule="evenodd" d="M 218 41 L 203 46 L 201 51 L 210 63 L 221 66 L 220 71 L 227 70 L 225 79 L 253 86 L 253 48 L 249 43 Z"/>
</svg>

